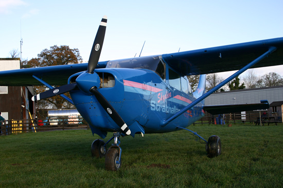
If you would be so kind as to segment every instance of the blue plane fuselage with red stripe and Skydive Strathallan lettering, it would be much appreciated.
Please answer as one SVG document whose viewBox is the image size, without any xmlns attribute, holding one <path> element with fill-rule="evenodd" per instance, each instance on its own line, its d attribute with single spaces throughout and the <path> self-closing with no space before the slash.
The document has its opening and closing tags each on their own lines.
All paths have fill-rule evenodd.
<svg viewBox="0 0 283 188">
<path fill-rule="evenodd" d="M 203 103 L 199 103 L 166 127 L 160 126 L 161 120 L 178 113 L 196 98 L 187 77 L 174 71 L 159 56 L 109 61 L 107 68 L 96 69 L 95 73 L 100 77 L 98 91 L 130 129 L 138 123 L 145 133 L 171 132 L 178 130 L 176 126 L 188 127 L 204 115 Z M 78 75 L 71 76 L 69 82 Z M 77 90 L 71 91 L 70 96 L 93 133 L 101 136 L 100 131 L 119 131 L 94 95 Z"/>
</svg>

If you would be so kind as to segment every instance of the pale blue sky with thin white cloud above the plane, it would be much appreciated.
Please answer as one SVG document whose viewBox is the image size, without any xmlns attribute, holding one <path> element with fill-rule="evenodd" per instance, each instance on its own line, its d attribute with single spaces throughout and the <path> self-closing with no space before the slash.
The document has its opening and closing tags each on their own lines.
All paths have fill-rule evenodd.
<svg viewBox="0 0 283 188">
<path fill-rule="evenodd" d="M 282 0 L 0 0 L 0 57 L 20 52 L 22 38 L 22 59 L 67 45 L 86 62 L 103 15 L 108 23 L 100 61 L 138 56 L 144 41 L 141 56 L 283 37 L 282 7 Z M 255 70 L 283 75 L 283 66 Z"/>
</svg>

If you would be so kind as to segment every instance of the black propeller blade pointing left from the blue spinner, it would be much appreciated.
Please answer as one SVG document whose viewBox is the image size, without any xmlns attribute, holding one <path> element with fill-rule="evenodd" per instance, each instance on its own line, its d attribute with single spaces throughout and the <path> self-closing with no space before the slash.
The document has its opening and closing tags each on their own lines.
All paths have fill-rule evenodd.
<svg viewBox="0 0 283 188">
<path fill-rule="evenodd" d="M 64 94 L 64 93 L 67 93 L 69 91 L 74 90 L 76 87 L 77 87 L 77 83 L 70 83 L 70 84 L 60 86 L 60 87 L 57 87 L 57 88 L 49 89 L 45 92 L 37 94 L 36 96 L 33 96 L 31 98 L 31 100 L 37 101 L 37 100 L 41 100 L 41 99 L 44 99 L 44 98 L 49 98 L 49 97 L 54 97 L 56 95 L 61 95 L 61 94 Z"/>
</svg>

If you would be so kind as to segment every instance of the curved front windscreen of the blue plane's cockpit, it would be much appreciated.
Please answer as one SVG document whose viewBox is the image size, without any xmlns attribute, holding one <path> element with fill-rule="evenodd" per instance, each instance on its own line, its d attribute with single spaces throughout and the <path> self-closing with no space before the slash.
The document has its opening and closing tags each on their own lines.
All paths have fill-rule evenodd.
<svg viewBox="0 0 283 188">
<path fill-rule="evenodd" d="M 148 69 L 165 80 L 165 64 L 159 56 L 111 60 L 107 63 L 106 68 Z"/>
</svg>

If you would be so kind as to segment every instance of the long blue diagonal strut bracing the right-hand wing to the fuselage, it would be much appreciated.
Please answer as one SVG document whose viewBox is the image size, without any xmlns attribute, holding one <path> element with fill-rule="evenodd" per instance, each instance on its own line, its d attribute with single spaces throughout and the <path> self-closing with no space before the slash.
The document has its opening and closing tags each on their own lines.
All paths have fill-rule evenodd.
<svg viewBox="0 0 283 188">
<path fill-rule="evenodd" d="M 265 53 L 263 53 L 262 55 L 260 55 L 259 57 L 257 57 L 255 60 L 253 60 L 252 62 L 250 62 L 249 64 L 247 64 L 246 66 L 244 66 L 242 69 L 240 69 L 239 71 L 237 71 L 236 73 L 234 73 L 233 75 L 231 75 L 230 77 L 226 78 L 224 81 L 222 81 L 221 83 L 219 83 L 219 85 L 217 85 L 216 87 L 214 87 L 213 89 L 209 90 L 207 93 L 205 93 L 204 95 L 202 95 L 201 97 L 199 97 L 198 99 L 194 100 L 192 103 L 190 103 L 187 107 L 185 107 L 184 109 L 182 109 L 180 112 L 176 113 L 175 115 L 173 115 L 172 117 L 170 117 L 169 119 L 163 119 L 160 122 L 160 126 L 161 127 L 165 127 L 167 126 L 168 123 L 170 123 L 171 121 L 173 121 L 175 118 L 179 117 L 180 115 L 182 115 L 183 113 L 185 113 L 188 109 L 194 107 L 195 105 L 197 105 L 199 102 L 201 102 L 203 99 L 205 99 L 206 97 L 208 97 L 209 95 L 213 94 L 216 90 L 220 89 L 222 86 L 224 86 L 226 83 L 228 83 L 229 81 L 233 80 L 235 77 L 239 76 L 241 73 L 243 73 L 244 71 L 246 71 L 247 69 L 250 69 L 251 67 L 253 67 L 255 64 L 257 64 L 261 59 L 267 57 L 269 54 L 271 54 L 272 52 L 274 52 L 277 48 L 276 47 L 270 47 L 269 50 Z"/>
</svg>

